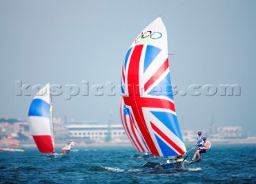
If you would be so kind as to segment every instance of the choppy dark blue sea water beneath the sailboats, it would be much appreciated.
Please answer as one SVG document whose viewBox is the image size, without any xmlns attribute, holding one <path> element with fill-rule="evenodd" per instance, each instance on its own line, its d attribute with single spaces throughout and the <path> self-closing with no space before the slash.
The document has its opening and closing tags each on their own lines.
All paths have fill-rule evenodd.
<svg viewBox="0 0 256 184">
<path fill-rule="evenodd" d="M 256 144 L 213 145 L 202 162 L 169 173 L 141 167 L 166 159 L 134 159 L 133 147 L 77 149 L 58 158 L 32 148 L 0 152 L 0 183 L 256 183 Z"/>
</svg>

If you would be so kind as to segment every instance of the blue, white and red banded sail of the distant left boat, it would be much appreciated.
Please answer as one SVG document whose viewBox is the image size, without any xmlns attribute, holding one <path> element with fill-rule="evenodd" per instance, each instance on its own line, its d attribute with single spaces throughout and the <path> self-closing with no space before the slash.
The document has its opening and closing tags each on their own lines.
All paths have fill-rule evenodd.
<svg viewBox="0 0 256 184">
<path fill-rule="evenodd" d="M 38 151 L 54 155 L 54 130 L 50 84 L 46 84 L 35 96 L 29 110 L 30 131 Z"/>
</svg>

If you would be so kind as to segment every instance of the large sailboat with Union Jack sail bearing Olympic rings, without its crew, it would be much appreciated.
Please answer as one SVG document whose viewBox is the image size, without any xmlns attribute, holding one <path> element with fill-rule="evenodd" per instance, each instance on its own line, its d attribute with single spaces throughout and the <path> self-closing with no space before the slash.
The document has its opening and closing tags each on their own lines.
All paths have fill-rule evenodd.
<svg viewBox="0 0 256 184">
<path fill-rule="evenodd" d="M 186 146 L 174 107 L 167 33 L 162 18 L 146 26 L 126 53 L 122 65 L 122 100 L 150 153 L 174 159 L 145 166 L 183 168 Z M 169 160 L 167 160 L 169 161 Z"/>
</svg>

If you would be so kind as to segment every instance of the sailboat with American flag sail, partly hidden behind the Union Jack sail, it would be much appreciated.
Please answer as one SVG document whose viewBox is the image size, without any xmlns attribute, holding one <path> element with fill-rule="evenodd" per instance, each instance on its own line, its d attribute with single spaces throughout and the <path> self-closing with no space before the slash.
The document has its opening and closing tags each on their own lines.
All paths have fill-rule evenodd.
<svg viewBox="0 0 256 184">
<path fill-rule="evenodd" d="M 146 146 L 145 140 L 142 138 L 142 134 L 139 132 L 138 127 L 134 124 L 133 118 L 130 114 L 129 108 L 123 102 L 121 97 L 120 101 L 120 115 L 122 120 L 122 127 L 126 131 L 130 143 L 134 146 L 135 150 L 142 154 L 134 155 L 136 159 L 152 159 L 154 155 L 150 153 L 149 148 Z"/>
</svg>

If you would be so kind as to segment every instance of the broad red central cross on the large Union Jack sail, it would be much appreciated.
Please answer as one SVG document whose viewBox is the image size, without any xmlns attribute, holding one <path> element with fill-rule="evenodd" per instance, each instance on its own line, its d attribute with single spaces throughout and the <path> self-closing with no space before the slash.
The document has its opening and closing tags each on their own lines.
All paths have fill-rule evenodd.
<svg viewBox="0 0 256 184">
<path fill-rule="evenodd" d="M 140 95 L 139 85 L 139 65 L 143 45 L 136 45 L 130 57 L 129 68 L 127 71 L 127 87 L 129 96 L 123 96 L 124 103 L 130 106 L 138 124 L 140 132 L 153 155 L 159 156 L 158 149 L 154 145 L 154 141 L 150 136 L 150 131 L 146 126 L 146 120 L 142 108 L 166 108 L 175 112 L 174 103 L 170 100 L 165 100 L 157 97 L 144 97 Z M 158 69 L 158 71 L 165 71 L 168 68 L 168 60 Z M 165 69 L 165 70 L 164 70 Z M 154 77 L 160 77 L 158 74 Z"/>
</svg>

